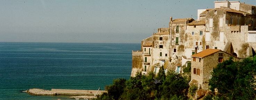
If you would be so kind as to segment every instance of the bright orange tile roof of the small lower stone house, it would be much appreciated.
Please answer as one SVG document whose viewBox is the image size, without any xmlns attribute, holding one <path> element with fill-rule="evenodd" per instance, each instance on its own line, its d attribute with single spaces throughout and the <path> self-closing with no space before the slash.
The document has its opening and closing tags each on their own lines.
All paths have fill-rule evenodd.
<svg viewBox="0 0 256 100">
<path fill-rule="evenodd" d="M 218 52 L 218 51 L 221 51 L 219 49 L 206 49 L 206 50 L 203 50 L 195 55 L 192 55 L 191 57 L 200 57 L 200 58 L 204 58 L 206 56 L 209 56 L 215 52 Z"/>
</svg>

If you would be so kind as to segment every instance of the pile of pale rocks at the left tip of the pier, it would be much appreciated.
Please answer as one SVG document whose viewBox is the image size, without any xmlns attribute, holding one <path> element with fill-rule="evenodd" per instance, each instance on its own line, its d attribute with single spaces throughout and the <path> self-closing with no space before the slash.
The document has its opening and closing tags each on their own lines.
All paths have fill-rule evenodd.
<svg viewBox="0 0 256 100">
<path fill-rule="evenodd" d="M 31 95 L 59 95 L 59 93 L 43 89 L 29 89 L 26 92 Z"/>
</svg>

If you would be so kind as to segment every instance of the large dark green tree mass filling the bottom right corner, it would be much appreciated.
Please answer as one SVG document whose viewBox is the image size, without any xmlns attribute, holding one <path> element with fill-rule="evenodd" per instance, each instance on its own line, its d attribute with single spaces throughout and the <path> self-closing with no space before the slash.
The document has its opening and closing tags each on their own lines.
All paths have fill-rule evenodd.
<svg viewBox="0 0 256 100">
<path fill-rule="evenodd" d="M 240 62 L 232 58 L 217 65 L 209 80 L 210 90 L 217 89 L 220 98 L 252 100 L 256 97 L 256 56 Z"/>
</svg>

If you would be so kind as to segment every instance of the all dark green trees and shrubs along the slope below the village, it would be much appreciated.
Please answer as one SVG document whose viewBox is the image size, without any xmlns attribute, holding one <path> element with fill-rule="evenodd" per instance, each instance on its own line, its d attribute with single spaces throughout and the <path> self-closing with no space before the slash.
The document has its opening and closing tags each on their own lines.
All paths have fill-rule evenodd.
<svg viewBox="0 0 256 100">
<path fill-rule="evenodd" d="M 129 80 L 116 79 L 113 84 L 106 86 L 108 93 L 102 94 L 97 100 L 195 99 L 200 89 L 198 90 L 197 84 L 188 85 L 190 64 L 189 62 L 187 67 L 183 66 L 183 74 L 170 70 L 165 74 L 162 66 L 157 75 L 150 72 L 146 76 L 137 72 Z M 201 91 L 206 94 L 203 100 L 256 100 L 255 77 L 256 56 L 241 61 L 230 58 L 213 69 L 209 80 L 210 91 Z"/>
</svg>

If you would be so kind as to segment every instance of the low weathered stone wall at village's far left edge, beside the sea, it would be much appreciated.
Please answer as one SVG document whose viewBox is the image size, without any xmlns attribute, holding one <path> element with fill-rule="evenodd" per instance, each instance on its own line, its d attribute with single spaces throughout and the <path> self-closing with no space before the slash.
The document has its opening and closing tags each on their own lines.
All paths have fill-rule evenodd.
<svg viewBox="0 0 256 100">
<path fill-rule="evenodd" d="M 142 51 L 132 51 L 132 77 L 134 77 L 138 71 L 142 71 L 142 61 Z"/>
</svg>

